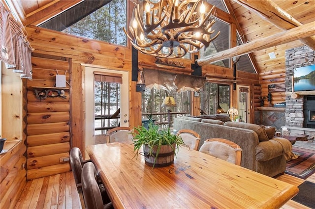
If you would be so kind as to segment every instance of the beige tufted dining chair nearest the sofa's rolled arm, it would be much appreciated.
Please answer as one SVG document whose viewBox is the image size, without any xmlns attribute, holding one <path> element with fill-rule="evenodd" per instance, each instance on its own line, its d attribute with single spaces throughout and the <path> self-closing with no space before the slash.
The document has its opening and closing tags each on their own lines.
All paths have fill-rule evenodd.
<svg viewBox="0 0 315 209">
<path fill-rule="evenodd" d="M 236 165 L 241 165 L 242 151 L 239 145 L 222 138 L 207 139 L 199 149 L 199 152 L 218 157 Z"/>
</svg>

